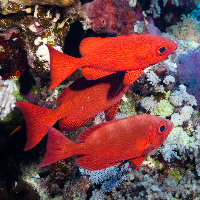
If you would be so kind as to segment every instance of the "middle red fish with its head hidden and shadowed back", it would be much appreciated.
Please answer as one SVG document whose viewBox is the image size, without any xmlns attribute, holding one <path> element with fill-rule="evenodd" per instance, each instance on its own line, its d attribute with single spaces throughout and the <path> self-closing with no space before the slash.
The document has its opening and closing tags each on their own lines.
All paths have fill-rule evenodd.
<svg viewBox="0 0 200 200">
<path fill-rule="evenodd" d="M 124 86 L 124 73 L 116 73 L 98 80 L 80 78 L 66 88 L 57 100 L 56 109 L 42 108 L 26 102 L 17 102 L 22 111 L 27 130 L 24 150 L 37 145 L 47 133 L 46 126 L 53 126 L 62 119 L 61 129 L 73 130 L 92 120 L 106 110 L 107 120 L 115 117 L 119 101 L 128 90 Z M 67 117 L 67 118 L 66 118 Z"/>
</svg>

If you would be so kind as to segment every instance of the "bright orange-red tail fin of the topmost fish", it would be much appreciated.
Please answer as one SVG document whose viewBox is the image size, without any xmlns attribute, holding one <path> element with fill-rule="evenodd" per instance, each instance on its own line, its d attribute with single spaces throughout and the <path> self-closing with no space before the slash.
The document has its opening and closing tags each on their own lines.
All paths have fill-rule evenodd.
<svg viewBox="0 0 200 200">
<path fill-rule="evenodd" d="M 48 46 L 50 53 L 50 72 L 51 72 L 51 85 L 49 89 L 52 89 L 64 81 L 80 66 L 79 59 L 72 56 L 68 56 L 51 46 Z"/>
</svg>

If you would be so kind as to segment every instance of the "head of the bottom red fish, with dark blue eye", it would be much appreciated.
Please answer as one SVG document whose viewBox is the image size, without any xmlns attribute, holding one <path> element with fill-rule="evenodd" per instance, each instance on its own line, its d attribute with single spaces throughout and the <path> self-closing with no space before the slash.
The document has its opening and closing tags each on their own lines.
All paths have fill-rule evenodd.
<svg viewBox="0 0 200 200">
<path fill-rule="evenodd" d="M 150 125 L 149 144 L 159 147 L 167 139 L 172 129 L 173 123 L 170 120 L 153 116 Z"/>
</svg>

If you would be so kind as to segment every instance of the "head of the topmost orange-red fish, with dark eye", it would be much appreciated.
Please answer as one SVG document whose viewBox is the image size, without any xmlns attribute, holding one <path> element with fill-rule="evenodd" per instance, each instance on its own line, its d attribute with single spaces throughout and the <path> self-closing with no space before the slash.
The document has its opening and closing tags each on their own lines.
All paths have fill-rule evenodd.
<svg viewBox="0 0 200 200">
<path fill-rule="evenodd" d="M 177 44 L 168 38 L 151 36 L 148 47 L 146 60 L 153 65 L 165 60 L 177 48 Z"/>
</svg>

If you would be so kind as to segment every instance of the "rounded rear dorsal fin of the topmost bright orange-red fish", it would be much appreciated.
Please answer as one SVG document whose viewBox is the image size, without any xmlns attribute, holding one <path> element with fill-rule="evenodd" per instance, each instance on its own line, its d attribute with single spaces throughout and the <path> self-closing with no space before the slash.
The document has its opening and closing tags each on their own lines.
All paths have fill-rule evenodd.
<svg viewBox="0 0 200 200">
<path fill-rule="evenodd" d="M 101 38 L 101 37 L 88 37 L 81 41 L 79 46 L 79 51 L 82 56 L 87 55 L 90 52 L 93 52 L 94 49 L 99 47 L 108 41 L 109 38 Z"/>
</svg>

